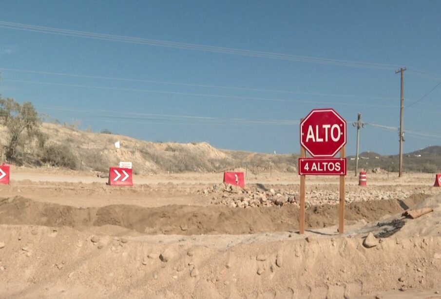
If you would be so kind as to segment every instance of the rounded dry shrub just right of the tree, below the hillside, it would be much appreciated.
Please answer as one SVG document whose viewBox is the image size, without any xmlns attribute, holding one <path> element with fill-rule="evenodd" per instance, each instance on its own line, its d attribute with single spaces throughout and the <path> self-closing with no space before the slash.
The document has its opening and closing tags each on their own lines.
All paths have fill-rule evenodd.
<svg viewBox="0 0 441 299">
<path fill-rule="evenodd" d="M 66 144 L 50 144 L 43 148 L 41 162 L 49 163 L 52 166 L 77 168 L 77 158 L 71 148 Z"/>
</svg>

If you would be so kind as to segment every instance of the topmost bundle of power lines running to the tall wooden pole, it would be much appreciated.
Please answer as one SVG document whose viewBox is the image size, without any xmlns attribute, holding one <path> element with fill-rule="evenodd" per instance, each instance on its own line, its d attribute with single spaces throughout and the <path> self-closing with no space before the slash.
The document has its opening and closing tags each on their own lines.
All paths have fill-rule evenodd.
<svg viewBox="0 0 441 299">
<path fill-rule="evenodd" d="M 321 63 L 321 64 L 339 65 L 339 66 L 365 68 L 365 69 L 393 70 L 397 67 L 396 65 L 383 64 L 383 63 L 359 62 L 359 61 L 350 61 L 350 60 L 334 60 L 334 59 L 324 59 L 324 58 L 316 58 L 316 57 L 308 57 L 308 56 L 288 55 L 288 54 L 281 54 L 274 52 L 261 52 L 261 51 L 244 50 L 237 48 L 216 47 L 216 46 L 208 46 L 208 45 L 193 44 L 193 43 L 174 42 L 167 40 L 133 38 L 127 36 L 120 36 L 120 35 L 76 31 L 76 30 L 28 25 L 28 24 L 21 24 L 21 23 L 7 22 L 7 21 L 0 21 L 0 27 L 15 29 L 15 30 L 46 33 L 46 34 L 96 39 L 96 40 L 111 40 L 111 41 L 148 44 L 153 46 L 170 47 L 170 48 L 178 48 L 178 49 L 188 49 L 188 50 L 197 50 L 197 51 L 205 51 L 205 52 L 233 54 L 233 55 L 242 55 L 242 56 L 250 56 L 250 57 L 278 59 L 278 60 L 288 60 L 288 61 Z"/>
</svg>

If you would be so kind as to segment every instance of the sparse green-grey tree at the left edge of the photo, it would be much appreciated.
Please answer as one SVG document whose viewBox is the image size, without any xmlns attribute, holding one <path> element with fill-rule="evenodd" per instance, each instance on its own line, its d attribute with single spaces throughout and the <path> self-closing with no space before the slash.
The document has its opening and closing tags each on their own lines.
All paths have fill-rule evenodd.
<svg viewBox="0 0 441 299">
<path fill-rule="evenodd" d="M 17 148 L 20 143 L 27 143 L 37 137 L 40 120 L 31 102 L 20 104 L 13 99 L 0 98 L 0 124 L 8 132 L 8 141 L 5 145 L 6 159 L 17 159 Z"/>
</svg>

